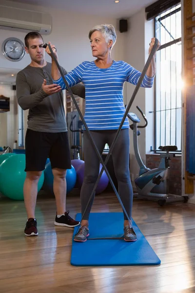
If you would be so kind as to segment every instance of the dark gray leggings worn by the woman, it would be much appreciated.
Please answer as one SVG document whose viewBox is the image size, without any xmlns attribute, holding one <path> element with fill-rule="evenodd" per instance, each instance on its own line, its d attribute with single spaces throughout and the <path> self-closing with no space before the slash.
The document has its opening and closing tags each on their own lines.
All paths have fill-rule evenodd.
<svg viewBox="0 0 195 293">
<path fill-rule="evenodd" d="M 117 130 L 96 130 L 91 131 L 91 134 L 98 146 L 99 152 L 102 153 L 105 144 L 111 146 Z M 92 145 L 87 131 L 84 131 L 83 136 L 83 151 L 85 160 L 85 172 L 84 181 L 82 184 L 80 199 L 81 199 L 81 212 L 84 214 L 84 210 L 89 201 L 93 187 L 96 183 L 99 174 L 99 159 Z M 121 201 L 129 218 L 132 217 L 132 205 L 133 205 L 133 188 L 130 180 L 129 172 L 129 129 L 122 129 L 117 138 L 117 143 L 112 151 L 112 159 L 117 177 L 118 193 Z M 89 219 L 89 214 L 94 201 L 94 196 L 85 212 L 83 220 Z M 123 212 L 124 213 L 124 212 Z M 124 214 L 124 220 L 127 220 Z"/>
</svg>

